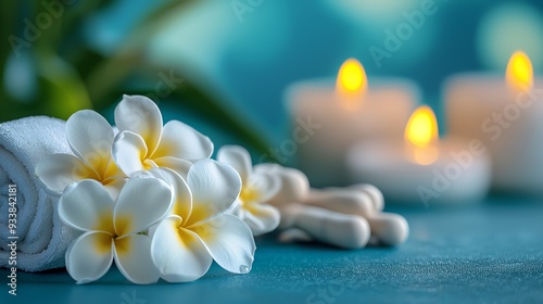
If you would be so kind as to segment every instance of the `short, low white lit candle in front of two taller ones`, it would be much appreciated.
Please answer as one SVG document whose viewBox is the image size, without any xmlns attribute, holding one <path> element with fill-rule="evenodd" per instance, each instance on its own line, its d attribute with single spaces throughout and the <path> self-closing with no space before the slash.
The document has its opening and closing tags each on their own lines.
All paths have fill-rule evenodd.
<svg viewBox="0 0 543 304">
<path fill-rule="evenodd" d="M 405 127 L 405 140 L 361 142 L 346 166 L 357 182 L 379 188 L 392 202 L 478 202 L 490 186 L 490 160 L 481 141 L 440 140 L 432 110 L 420 106 Z"/>
</svg>

